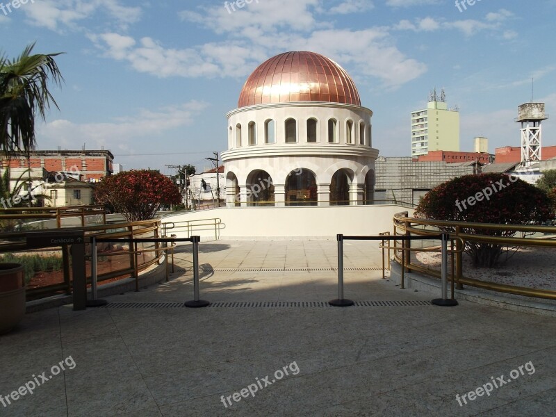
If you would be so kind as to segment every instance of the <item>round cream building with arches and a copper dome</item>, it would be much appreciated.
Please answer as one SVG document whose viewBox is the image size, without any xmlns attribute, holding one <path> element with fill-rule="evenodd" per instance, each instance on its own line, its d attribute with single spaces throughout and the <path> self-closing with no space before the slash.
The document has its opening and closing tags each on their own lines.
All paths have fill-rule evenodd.
<svg viewBox="0 0 556 417">
<path fill-rule="evenodd" d="M 266 60 L 227 114 L 227 206 L 370 204 L 372 116 L 333 60 L 306 51 Z"/>
</svg>

